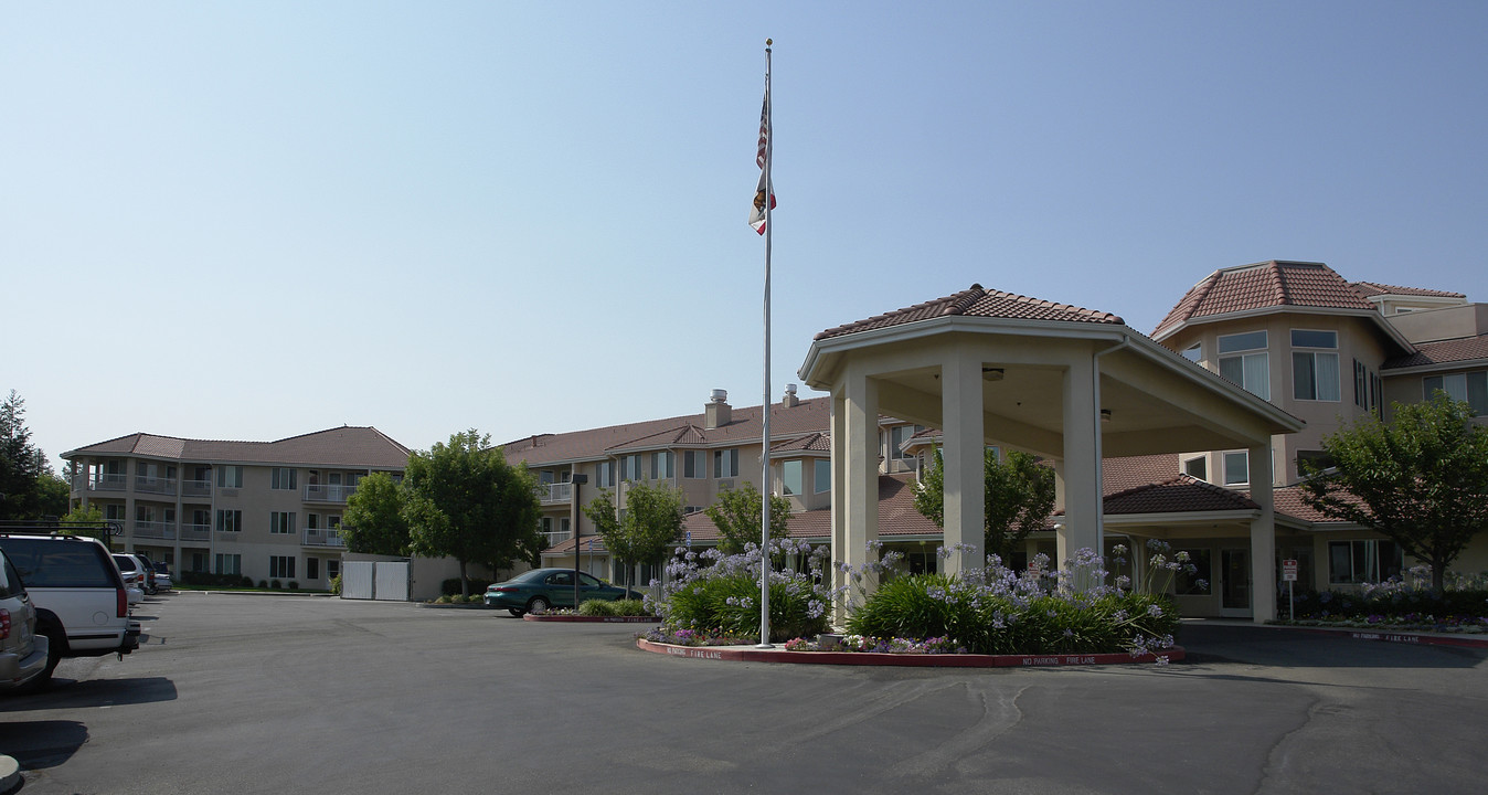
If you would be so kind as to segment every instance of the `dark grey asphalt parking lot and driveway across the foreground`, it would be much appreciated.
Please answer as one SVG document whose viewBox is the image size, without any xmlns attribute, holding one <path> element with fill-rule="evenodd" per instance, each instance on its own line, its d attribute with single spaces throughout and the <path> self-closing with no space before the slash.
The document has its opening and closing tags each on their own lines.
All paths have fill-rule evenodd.
<svg viewBox="0 0 1488 795">
<path fill-rule="evenodd" d="M 171 594 L 118 661 L 0 698 L 31 794 L 1488 789 L 1488 651 L 1186 627 L 1190 661 L 679 660 L 637 627 Z"/>
</svg>

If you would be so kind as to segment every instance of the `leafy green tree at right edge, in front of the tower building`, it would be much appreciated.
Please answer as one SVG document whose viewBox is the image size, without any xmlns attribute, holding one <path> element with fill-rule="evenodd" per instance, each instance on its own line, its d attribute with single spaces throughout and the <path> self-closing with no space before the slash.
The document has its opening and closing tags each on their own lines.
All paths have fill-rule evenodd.
<svg viewBox="0 0 1488 795">
<path fill-rule="evenodd" d="M 1369 417 L 1324 438 L 1332 466 L 1301 462 L 1302 499 L 1399 543 L 1431 567 L 1440 594 L 1446 567 L 1488 527 L 1488 427 L 1440 392 L 1391 411 L 1388 423 Z"/>
</svg>

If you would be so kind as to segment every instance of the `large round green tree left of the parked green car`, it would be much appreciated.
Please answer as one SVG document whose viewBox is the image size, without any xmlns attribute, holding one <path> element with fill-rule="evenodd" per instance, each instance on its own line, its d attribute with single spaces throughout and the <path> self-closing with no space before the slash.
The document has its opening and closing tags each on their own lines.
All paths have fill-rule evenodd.
<svg viewBox="0 0 1488 795">
<path fill-rule="evenodd" d="M 537 564 L 537 481 L 525 464 L 506 463 L 490 435 L 470 429 L 414 453 L 403 481 L 412 551 L 458 560 L 463 596 L 470 594 L 472 563 L 493 570 L 518 560 Z"/>
</svg>

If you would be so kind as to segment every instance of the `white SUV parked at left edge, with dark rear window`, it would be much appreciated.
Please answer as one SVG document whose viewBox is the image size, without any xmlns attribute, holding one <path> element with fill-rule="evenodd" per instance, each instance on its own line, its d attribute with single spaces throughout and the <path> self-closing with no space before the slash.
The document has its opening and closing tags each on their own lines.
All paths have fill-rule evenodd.
<svg viewBox="0 0 1488 795">
<path fill-rule="evenodd" d="M 103 542 L 0 531 L 0 551 L 21 573 L 36 606 L 36 633 L 48 639 L 43 682 L 64 657 L 122 658 L 140 646 L 124 579 Z"/>
</svg>

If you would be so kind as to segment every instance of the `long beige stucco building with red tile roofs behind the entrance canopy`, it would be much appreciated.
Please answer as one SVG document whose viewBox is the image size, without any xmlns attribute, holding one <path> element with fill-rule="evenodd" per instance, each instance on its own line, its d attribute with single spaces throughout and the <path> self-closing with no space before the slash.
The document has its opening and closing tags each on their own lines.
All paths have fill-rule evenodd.
<svg viewBox="0 0 1488 795">
<path fill-rule="evenodd" d="M 961 295 L 839 329 L 923 322 L 920 316 L 933 314 L 926 307 L 940 311 Z M 1022 301 L 1040 307 L 1042 317 L 1051 317 L 1043 307 L 1061 307 Z M 1083 319 L 1083 310 L 1065 310 Z M 1257 469 L 1245 448 L 1103 460 L 1107 552 L 1116 543 L 1140 549 L 1147 539 L 1187 549 L 1199 567 L 1196 576 L 1176 584 L 1187 615 L 1254 616 L 1254 591 L 1272 588 L 1280 579 L 1274 570 L 1268 578 L 1256 576 L 1266 566 L 1256 560 L 1254 527 L 1268 515 L 1274 537 L 1260 554 L 1275 557 L 1272 569 L 1280 560 L 1298 560 L 1303 587 L 1344 587 L 1399 573 L 1411 561 L 1394 543 L 1360 527 L 1326 521 L 1302 502 L 1298 460 L 1321 457 L 1323 438 L 1345 424 L 1369 414 L 1388 418 L 1391 402 L 1423 400 L 1437 389 L 1469 400 L 1488 418 L 1488 305 L 1470 304 L 1463 293 L 1350 283 L 1314 262 L 1262 262 L 1205 277 L 1181 296 L 1150 339 L 1305 423 L 1295 433 L 1271 438 L 1272 460 L 1259 469 L 1271 473 L 1265 508 L 1251 499 L 1250 479 Z M 984 374 L 987 369 L 1001 375 L 1001 368 L 984 368 Z M 798 400 L 793 393 L 769 406 L 769 485 L 792 500 L 792 534 L 823 543 L 832 537 L 829 406 L 827 398 Z M 506 445 L 512 460 L 525 462 L 549 484 L 543 521 L 554 545 L 545 560 L 574 563 L 577 521 L 579 564 L 597 575 L 620 576 L 577 511 L 565 482 L 573 472 L 589 478 L 579 502 L 588 502 L 595 487 L 618 488 L 623 499 L 628 482 L 665 481 L 686 491 L 692 509 L 701 509 L 720 488 L 760 482 L 759 415 L 760 406 L 731 408 L 716 392 L 699 415 L 540 435 Z M 1106 433 L 1120 424 L 1110 423 L 1109 414 L 1101 420 Z M 1001 444 L 995 427 L 987 429 L 987 436 Z M 934 548 L 942 534 L 912 508 L 912 472 L 940 441 L 934 427 L 891 417 L 876 423 L 875 536 L 905 552 L 915 570 L 936 569 Z M 1031 537 L 1027 551 L 1010 563 L 1021 564 L 1039 552 L 1055 557 L 1062 521 L 1061 509 L 1051 520 L 1052 530 Z M 687 517 L 686 531 L 687 542 L 698 546 L 716 540 L 716 530 L 701 514 Z M 1134 566 L 1125 573 L 1140 576 L 1141 564 Z M 1488 539 L 1475 543 L 1457 569 L 1488 569 Z M 644 582 L 649 572 L 638 575 Z M 1274 610 L 1275 601 L 1274 596 L 1263 600 L 1269 604 L 1265 612 Z"/>
</svg>

